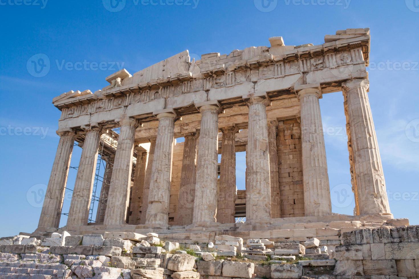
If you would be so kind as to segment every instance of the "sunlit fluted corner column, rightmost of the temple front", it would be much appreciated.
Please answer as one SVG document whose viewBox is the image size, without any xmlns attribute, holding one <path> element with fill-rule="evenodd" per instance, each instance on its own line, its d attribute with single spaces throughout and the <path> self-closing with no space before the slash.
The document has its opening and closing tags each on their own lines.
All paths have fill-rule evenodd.
<svg viewBox="0 0 419 279">
<path fill-rule="evenodd" d="M 361 215 L 390 213 L 383 165 L 367 94 L 369 85 L 368 79 L 353 79 L 342 84 L 347 97 L 354 154 L 355 195 Z"/>
</svg>

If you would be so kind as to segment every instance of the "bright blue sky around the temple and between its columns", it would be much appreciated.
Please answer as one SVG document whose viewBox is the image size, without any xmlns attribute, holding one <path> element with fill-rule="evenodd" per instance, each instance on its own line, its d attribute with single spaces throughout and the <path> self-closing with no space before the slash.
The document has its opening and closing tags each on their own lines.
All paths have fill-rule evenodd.
<svg viewBox="0 0 419 279">
<path fill-rule="evenodd" d="M 120 1 L 0 0 L 0 236 L 37 226 L 58 143 L 53 97 L 96 91 L 121 66 L 134 73 L 185 49 L 192 57 L 228 54 L 269 45 L 272 36 L 316 45 L 326 34 L 365 27 L 372 36 L 369 98 L 391 210 L 419 224 L 418 0 Z M 47 72 L 34 72 L 31 57 L 39 54 L 49 59 Z M 352 214 L 341 92 L 320 104 L 333 211 Z M 79 158 L 75 147 L 71 165 Z M 244 162 L 238 154 L 239 188 Z M 74 176 L 71 170 L 71 189 Z"/>
</svg>

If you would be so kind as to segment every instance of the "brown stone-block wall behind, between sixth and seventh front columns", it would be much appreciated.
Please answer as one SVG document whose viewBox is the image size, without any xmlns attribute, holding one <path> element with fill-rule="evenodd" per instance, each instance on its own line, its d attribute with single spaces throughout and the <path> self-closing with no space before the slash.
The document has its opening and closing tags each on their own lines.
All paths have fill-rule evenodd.
<svg viewBox="0 0 419 279">
<path fill-rule="evenodd" d="M 301 127 L 298 119 L 279 121 L 277 146 L 281 217 L 304 217 Z"/>
</svg>

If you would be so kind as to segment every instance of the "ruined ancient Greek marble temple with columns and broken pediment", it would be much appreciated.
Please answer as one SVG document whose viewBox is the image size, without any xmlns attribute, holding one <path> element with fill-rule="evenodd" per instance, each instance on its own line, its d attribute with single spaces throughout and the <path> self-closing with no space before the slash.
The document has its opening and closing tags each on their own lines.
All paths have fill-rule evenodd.
<svg viewBox="0 0 419 279">
<path fill-rule="evenodd" d="M 337 31 L 324 41 L 287 46 L 272 37 L 269 46 L 198 61 L 186 50 L 133 74 L 122 69 L 94 93 L 55 97 L 60 139 L 37 231 L 59 227 L 66 187 L 73 194 L 65 227 L 80 233 L 240 235 L 392 220 L 368 99 L 369 29 Z M 319 104 L 336 92 L 344 97 L 353 216 L 331 210 Z M 83 151 L 73 187 L 66 180 L 75 142 Z M 106 171 L 96 218 L 88 222 L 100 144 Z M 240 151 L 246 190 L 237 191 Z M 240 217 L 246 222 L 235 223 Z"/>
</svg>

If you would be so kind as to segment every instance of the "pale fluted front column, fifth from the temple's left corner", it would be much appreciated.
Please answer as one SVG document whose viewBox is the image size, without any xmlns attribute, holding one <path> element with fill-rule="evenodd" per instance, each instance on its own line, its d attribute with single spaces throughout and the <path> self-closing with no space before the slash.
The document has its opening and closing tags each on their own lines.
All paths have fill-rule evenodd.
<svg viewBox="0 0 419 279">
<path fill-rule="evenodd" d="M 217 213 L 218 105 L 204 105 L 197 155 L 193 223 L 214 223 Z"/>
</svg>

